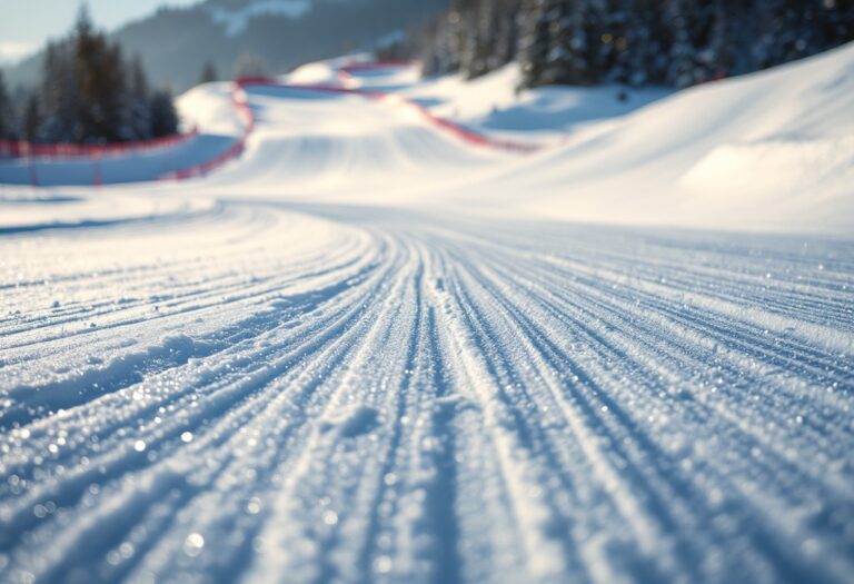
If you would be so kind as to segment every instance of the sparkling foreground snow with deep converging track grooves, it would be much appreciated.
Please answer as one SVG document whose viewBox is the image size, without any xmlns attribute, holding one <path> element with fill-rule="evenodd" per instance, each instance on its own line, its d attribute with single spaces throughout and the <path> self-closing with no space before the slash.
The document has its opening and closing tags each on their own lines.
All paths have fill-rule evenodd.
<svg viewBox="0 0 854 584">
<path fill-rule="evenodd" d="M 0 235 L 2 582 L 851 582 L 850 240 L 92 232 Z"/>
</svg>

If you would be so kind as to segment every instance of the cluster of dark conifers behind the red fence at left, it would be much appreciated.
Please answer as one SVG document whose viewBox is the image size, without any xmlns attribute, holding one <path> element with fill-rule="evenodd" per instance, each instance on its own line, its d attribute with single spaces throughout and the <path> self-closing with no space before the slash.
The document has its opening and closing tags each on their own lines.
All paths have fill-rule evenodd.
<svg viewBox="0 0 854 584">
<path fill-rule="evenodd" d="M 20 93 L 10 96 L 0 73 L 0 139 L 117 143 L 178 131 L 170 92 L 152 88 L 140 59 L 126 59 L 86 8 L 67 38 L 48 43 L 38 87 Z"/>
</svg>

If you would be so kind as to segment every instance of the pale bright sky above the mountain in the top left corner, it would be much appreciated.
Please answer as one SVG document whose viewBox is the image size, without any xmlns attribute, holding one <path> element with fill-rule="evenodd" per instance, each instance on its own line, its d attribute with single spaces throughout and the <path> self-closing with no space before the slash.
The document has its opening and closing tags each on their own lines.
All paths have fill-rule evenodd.
<svg viewBox="0 0 854 584">
<path fill-rule="evenodd" d="M 199 0 L 89 0 L 100 28 L 120 24 L 153 12 L 159 6 L 188 6 Z M 0 0 L 0 62 L 33 52 L 52 37 L 64 34 L 75 21 L 78 0 Z"/>
</svg>

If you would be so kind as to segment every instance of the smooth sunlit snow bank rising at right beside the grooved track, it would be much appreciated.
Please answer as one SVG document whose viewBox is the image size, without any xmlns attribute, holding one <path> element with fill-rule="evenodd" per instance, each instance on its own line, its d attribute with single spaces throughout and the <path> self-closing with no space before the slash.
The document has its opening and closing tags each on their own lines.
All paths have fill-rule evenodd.
<svg viewBox="0 0 854 584">
<path fill-rule="evenodd" d="M 854 47 L 697 87 L 526 160 L 466 195 L 607 222 L 847 230 Z M 520 196 L 520 194 L 525 194 Z"/>
</svg>

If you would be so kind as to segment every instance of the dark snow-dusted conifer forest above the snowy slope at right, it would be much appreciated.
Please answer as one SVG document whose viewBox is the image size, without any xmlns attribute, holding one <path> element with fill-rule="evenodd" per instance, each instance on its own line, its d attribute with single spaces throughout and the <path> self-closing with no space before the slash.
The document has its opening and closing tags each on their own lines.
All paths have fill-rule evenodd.
<svg viewBox="0 0 854 584">
<path fill-rule="evenodd" d="M 854 0 L 451 0 L 414 44 L 427 75 L 684 88 L 851 40 Z"/>
</svg>

